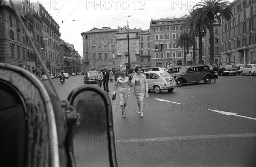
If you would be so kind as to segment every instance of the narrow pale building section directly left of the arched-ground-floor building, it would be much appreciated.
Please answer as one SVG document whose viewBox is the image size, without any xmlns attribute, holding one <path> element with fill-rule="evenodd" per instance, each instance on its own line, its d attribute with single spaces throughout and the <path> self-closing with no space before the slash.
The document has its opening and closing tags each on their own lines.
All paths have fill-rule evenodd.
<svg viewBox="0 0 256 167">
<path fill-rule="evenodd" d="M 140 31 L 140 59 L 139 65 L 142 67 L 151 67 L 151 49 L 150 49 L 149 30 Z"/>
</svg>

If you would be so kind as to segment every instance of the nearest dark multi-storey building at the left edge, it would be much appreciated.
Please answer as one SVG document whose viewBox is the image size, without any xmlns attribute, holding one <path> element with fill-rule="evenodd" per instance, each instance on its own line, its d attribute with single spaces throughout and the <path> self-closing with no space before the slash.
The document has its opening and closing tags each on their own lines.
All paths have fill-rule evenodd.
<svg viewBox="0 0 256 167">
<path fill-rule="evenodd" d="M 8 1 L 3 1 L 0 12 L 3 19 L 0 24 L 0 62 L 17 65 L 35 73 L 35 53 L 29 38 L 33 40 L 34 17 L 28 1 L 21 1 L 15 7 L 28 30 L 25 34 L 14 9 Z"/>
</svg>

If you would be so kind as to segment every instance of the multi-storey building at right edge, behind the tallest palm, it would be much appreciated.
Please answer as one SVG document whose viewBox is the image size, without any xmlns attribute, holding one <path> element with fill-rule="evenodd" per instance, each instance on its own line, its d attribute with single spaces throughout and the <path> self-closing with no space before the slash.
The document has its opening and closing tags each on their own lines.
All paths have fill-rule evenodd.
<svg viewBox="0 0 256 167">
<path fill-rule="evenodd" d="M 221 18 L 221 62 L 256 61 L 256 0 L 235 0 L 233 17 Z"/>
</svg>

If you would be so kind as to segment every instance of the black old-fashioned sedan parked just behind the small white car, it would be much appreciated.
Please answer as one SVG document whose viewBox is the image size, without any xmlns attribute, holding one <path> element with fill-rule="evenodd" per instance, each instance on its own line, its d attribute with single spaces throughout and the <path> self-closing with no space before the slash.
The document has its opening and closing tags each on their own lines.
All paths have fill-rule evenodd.
<svg viewBox="0 0 256 167">
<path fill-rule="evenodd" d="M 211 83 L 213 76 L 208 65 L 192 65 L 180 68 L 180 72 L 172 74 L 178 86 L 183 83 L 204 81 L 205 84 Z"/>
</svg>

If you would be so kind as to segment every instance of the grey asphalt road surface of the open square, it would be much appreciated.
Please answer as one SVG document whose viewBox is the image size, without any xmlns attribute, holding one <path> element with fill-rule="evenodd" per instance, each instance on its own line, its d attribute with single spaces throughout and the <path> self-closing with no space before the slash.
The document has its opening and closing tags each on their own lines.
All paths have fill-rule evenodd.
<svg viewBox="0 0 256 167">
<path fill-rule="evenodd" d="M 84 85 L 83 76 L 52 82 L 61 99 Z M 109 88 L 111 98 L 114 82 Z M 141 118 L 131 91 L 123 119 L 118 96 L 112 101 L 120 167 L 256 166 L 256 76 L 219 76 L 208 85 L 150 91 L 144 102 Z"/>
</svg>

